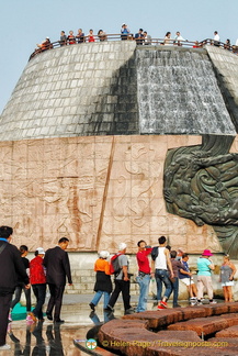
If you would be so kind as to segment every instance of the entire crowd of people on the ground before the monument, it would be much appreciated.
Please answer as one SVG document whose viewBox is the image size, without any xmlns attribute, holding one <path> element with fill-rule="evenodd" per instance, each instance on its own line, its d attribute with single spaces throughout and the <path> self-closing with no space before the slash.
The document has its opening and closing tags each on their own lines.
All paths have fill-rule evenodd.
<svg viewBox="0 0 238 356">
<path fill-rule="evenodd" d="M 58 245 L 47 249 L 38 247 L 35 251 L 35 257 L 30 262 L 26 256 L 29 248 L 25 245 L 18 249 L 11 244 L 13 230 L 10 226 L 0 226 L 0 351 L 9 349 L 5 344 L 8 323 L 11 322 L 11 313 L 15 304 L 20 301 L 21 293 L 24 290 L 26 298 L 26 322 L 44 322 L 43 305 L 46 297 L 46 286 L 48 286 L 50 298 L 46 308 L 46 316 L 55 324 L 64 323 L 60 319 L 63 294 L 68 283 L 72 285 L 70 264 L 66 248 L 69 240 L 61 237 Z M 209 249 L 204 249 L 202 256 L 197 259 L 197 285 L 193 279 L 188 260 L 189 254 L 181 247 L 171 251 L 167 245 L 167 238 L 160 236 L 159 245 L 156 247 L 147 246 L 146 242 L 140 240 L 137 243 L 138 252 L 136 254 L 138 272 L 136 282 L 139 286 L 139 298 L 136 310 L 131 305 L 131 278 L 129 262 L 126 255 L 126 244 L 120 243 L 118 251 L 110 259 L 106 251 L 99 253 L 99 258 L 94 264 L 95 285 L 90 308 L 91 319 L 95 316 L 95 307 L 102 296 L 104 296 L 104 311 L 110 318 L 114 311 L 114 305 L 122 292 L 125 314 L 143 312 L 147 310 L 147 297 L 151 280 L 156 280 L 158 310 L 168 308 L 168 300 L 173 293 L 173 308 L 180 307 L 178 303 L 180 282 L 186 286 L 190 302 L 192 305 L 203 303 L 204 291 L 208 296 L 209 303 L 216 303 L 213 296 L 212 271 L 215 265 L 211 257 Z M 151 264 L 149 260 L 151 255 Z M 151 266 L 150 266 L 151 265 Z M 235 265 L 225 255 L 220 266 L 220 283 L 224 291 L 225 302 L 233 301 L 234 276 L 236 274 Z M 111 276 L 114 276 L 114 289 Z M 162 287 L 165 292 L 162 293 Z M 36 303 L 32 310 L 31 288 L 36 298 Z M 14 294 L 14 298 L 12 298 Z"/>
</svg>

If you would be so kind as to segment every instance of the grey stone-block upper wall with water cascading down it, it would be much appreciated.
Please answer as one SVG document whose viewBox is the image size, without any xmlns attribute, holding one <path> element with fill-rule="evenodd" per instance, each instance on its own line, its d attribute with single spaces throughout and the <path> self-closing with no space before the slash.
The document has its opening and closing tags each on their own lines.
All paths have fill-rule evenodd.
<svg viewBox="0 0 238 356">
<path fill-rule="evenodd" d="M 208 56 L 206 49 L 136 48 L 135 42 L 122 41 L 44 52 L 26 65 L 0 116 L 0 141 L 109 134 L 235 135 L 226 109 L 229 102 L 220 92 L 224 84 L 219 88 L 214 66 L 227 58 L 238 63 L 238 58 L 218 48 L 213 66 L 212 51 Z M 235 64 L 230 71 L 237 74 Z M 230 77 L 229 73 L 229 82 Z M 237 80 L 228 92 L 237 96 Z"/>
</svg>

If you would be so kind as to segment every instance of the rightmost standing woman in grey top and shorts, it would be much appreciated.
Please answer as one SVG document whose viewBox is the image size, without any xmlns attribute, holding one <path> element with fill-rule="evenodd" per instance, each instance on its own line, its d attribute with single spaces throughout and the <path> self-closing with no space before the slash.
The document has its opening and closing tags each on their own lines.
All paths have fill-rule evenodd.
<svg viewBox="0 0 238 356">
<path fill-rule="evenodd" d="M 229 255 L 224 256 L 223 265 L 220 266 L 220 282 L 224 291 L 225 302 L 233 301 L 233 286 L 236 267 L 229 260 Z"/>
</svg>

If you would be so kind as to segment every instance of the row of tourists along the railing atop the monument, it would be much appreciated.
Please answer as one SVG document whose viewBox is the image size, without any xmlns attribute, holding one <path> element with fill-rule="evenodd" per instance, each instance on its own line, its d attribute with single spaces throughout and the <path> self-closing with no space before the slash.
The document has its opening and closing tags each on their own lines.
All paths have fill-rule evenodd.
<svg viewBox="0 0 238 356">
<path fill-rule="evenodd" d="M 94 34 L 93 30 L 89 30 L 89 33 L 86 34 L 82 29 L 79 29 L 77 34 L 73 33 L 72 30 L 69 31 L 69 34 L 66 35 L 65 31 L 60 32 L 60 37 L 56 42 L 57 45 L 66 46 L 66 45 L 73 45 L 73 44 L 80 44 L 80 43 L 92 43 L 92 42 L 104 42 L 107 41 L 109 36 L 103 30 L 99 30 L 97 34 Z M 152 45 L 152 44 L 160 44 L 160 45 L 175 45 L 175 46 L 182 46 L 184 43 L 188 43 L 189 41 L 183 38 L 183 36 L 180 34 L 179 31 L 172 36 L 171 32 L 167 32 L 163 38 L 151 38 L 151 36 L 147 33 L 147 31 L 144 31 L 143 29 L 139 29 L 137 33 L 133 34 L 131 30 L 128 29 L 127 24 L 123 23 L 121 27 L 120 34 L 110 35 L 110 38 L 121 38 L 122 41 L 125 40 L 134 40 L 136 41 L 137 45 Z M 205 41 L 195 41 L 191 42 L 191 45 L 193 48 L 201 48 L 205 44 L 211 43 L 212 45 L 223 47 L 224 49 L 231 51 L 236 54 L 238 54 L 238 40 L 236 41 L 235 45 L 231 45 L 230 40 L 227 38 L 226 43 L 222 43 L 218 32 L 214 32 L 214 38 L 213 40 L 205 40 Z M 55 43 L 54 43 L 55 44 Z M 46 49 L 50 49 L 54 47 L 54 44 L 50 42 L 49 37 L 46 37 L 41 44 L 37 44 L 37 48 L 35 49 L 34 54 L 37 54 L 39 52 L 44 52 Z M 32 56 L 33 56 L 32 55 Z"/>
</svg>

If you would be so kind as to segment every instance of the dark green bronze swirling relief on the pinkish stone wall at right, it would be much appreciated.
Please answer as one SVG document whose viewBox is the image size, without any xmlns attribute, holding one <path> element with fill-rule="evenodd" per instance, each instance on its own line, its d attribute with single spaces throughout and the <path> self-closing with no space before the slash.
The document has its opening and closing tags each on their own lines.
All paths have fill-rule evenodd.
<svg viewBox="0 0 238 356">
<path fill-rule="evenodd" d="M 171 151 L 163 194 L 170 213 L 212 225 L 224 251 L 237 257 L 238 154 L 227 153 L 233 140 L 205 136 L 202 146 Z"/>
</svg>

